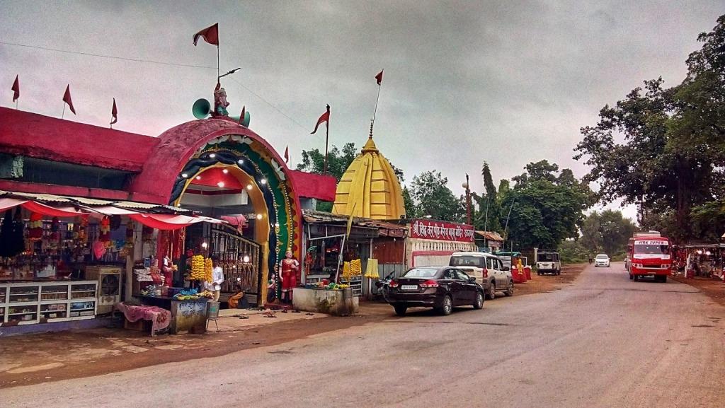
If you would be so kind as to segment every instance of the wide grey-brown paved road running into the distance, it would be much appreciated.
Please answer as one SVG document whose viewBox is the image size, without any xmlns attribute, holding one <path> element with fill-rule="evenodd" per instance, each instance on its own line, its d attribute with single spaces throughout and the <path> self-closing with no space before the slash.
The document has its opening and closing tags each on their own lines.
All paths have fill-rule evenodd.
<svg viewBox="0 0 725 408">
<path fill-rule="evenodd" d="M 2 407 L 725 407 L 725 308 L 589 267 L 553 293 L 0 391 Z"/>
</svg>

